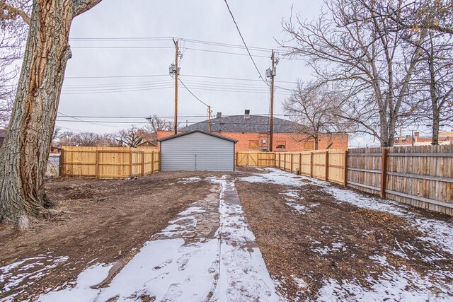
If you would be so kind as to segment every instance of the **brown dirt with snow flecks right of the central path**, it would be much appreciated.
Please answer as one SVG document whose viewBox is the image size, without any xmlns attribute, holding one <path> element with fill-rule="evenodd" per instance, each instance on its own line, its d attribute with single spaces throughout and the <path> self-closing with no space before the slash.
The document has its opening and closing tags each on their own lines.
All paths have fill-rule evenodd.
<svg viewBox="0 0 453 302">
<path fill-rule="evenodd" d="M 236 188 L 268 270 L 289 301 L 316 300 L 328 278 L 340 284 L 354 279 L 369 287 L 365 278 L 377 279 L 385 269 L 373 259 L 377 255 L 421 276 L 453 269 L 451 255 L 420 240 L 420 232 L 406 219 L 340 203 L 317 185 L 294 188 L 238 180 Z M 307 209 L 304 214 L 287 204 L 285 191 L 299 192 L 302 198 L 294 203 Z M 303 290 L 298 278 L 306 284 Z"/>
</svg>

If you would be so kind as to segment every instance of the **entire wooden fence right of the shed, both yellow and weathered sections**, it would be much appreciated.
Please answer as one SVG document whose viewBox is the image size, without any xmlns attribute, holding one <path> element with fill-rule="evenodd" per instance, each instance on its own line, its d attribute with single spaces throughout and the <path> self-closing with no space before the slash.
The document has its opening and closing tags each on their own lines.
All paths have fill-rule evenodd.
<svg viewBox="0 0 453 302">
<path fill-rule="evenodd" d="M 453 146 L 236 153 L 236 165 L 275 167 L 453 215 Z"/>
</svg>

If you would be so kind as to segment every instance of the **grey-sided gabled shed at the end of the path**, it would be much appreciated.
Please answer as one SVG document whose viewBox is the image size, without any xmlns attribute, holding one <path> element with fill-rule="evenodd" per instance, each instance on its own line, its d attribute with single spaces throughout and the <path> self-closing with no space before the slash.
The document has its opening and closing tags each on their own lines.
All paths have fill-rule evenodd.
<svg viewBox="0 0 453 302">
<path fill-rule="evenodd" d="M 162 171 L 234 171 L 234 139 L 193 130 L 159 141 Z"/>
</svg>

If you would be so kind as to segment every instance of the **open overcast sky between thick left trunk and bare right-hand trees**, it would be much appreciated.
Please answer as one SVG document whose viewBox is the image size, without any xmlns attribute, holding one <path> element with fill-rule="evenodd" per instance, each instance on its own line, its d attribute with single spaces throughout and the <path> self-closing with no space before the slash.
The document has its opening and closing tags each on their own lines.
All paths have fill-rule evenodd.
<svg viewBox="0 0 453 302">
<path fill-rule="evenodd" d="M 279 50 L 275 40 L 288 38 L 282 32 L 282 18 L 289 17 L 292 6 L 302 18 L 316 18 L 321 4 L 322 1 L 229 0 L 247 45 L 269 49 L 251 51 L 263 76 L 270 66 L 270 49 Z M 250 109 L 251 114 L 268 114 L 268 86 L 260 81 L 246 50 L 187 41 L 242 45 L 222 0 L 104 0 L 74 20 L 70 37 L 73 55 L 67 66 L 59 112 L 92 123 L 59 116 L 57 125 L 64 130 L 115 132 L 130 124 L 142 126 L 139 123 L 146 122 L 144 117 L 149 115 L 173 120 L 174 81 L 168 75 L 168 66 L 175 60 L 173 41 L 103 38 L 180 37 L 180 79 L 200 100 L 212 105 L 214 115 L 241 115 L 245 109 Z M 280 59 L 277 86 L 292 88 L 290 82 L 312 79 L 304 62 L 281 56 Z M 277 115 L 284 113 L 285 97 L 287 91 L 277 88 Z M 205 120 L 206 106 L 181 85 L 178 100 L 179 122 Z M 123 118 L 128 116 L 135 118 Z M 73 122 L 64 122 L 70 120 Z"/>
</svg>

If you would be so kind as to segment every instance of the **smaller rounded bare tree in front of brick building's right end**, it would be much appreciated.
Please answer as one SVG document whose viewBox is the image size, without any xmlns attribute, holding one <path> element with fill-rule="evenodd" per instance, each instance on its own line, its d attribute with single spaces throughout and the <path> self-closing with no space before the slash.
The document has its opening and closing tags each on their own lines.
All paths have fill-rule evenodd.
<svg viewBox="0 0 453 302">
<path fill-rule="evenodd" d="M 346 132 L 352 123 L 340 117 L 343 96 L 326 85 L 299 81 L 291 96 L 285 100 L 283 108 L 296 124 L 296 131 L 304 139 L 314 139 L 318 150 L 320 134 Z"/>
</svg>

